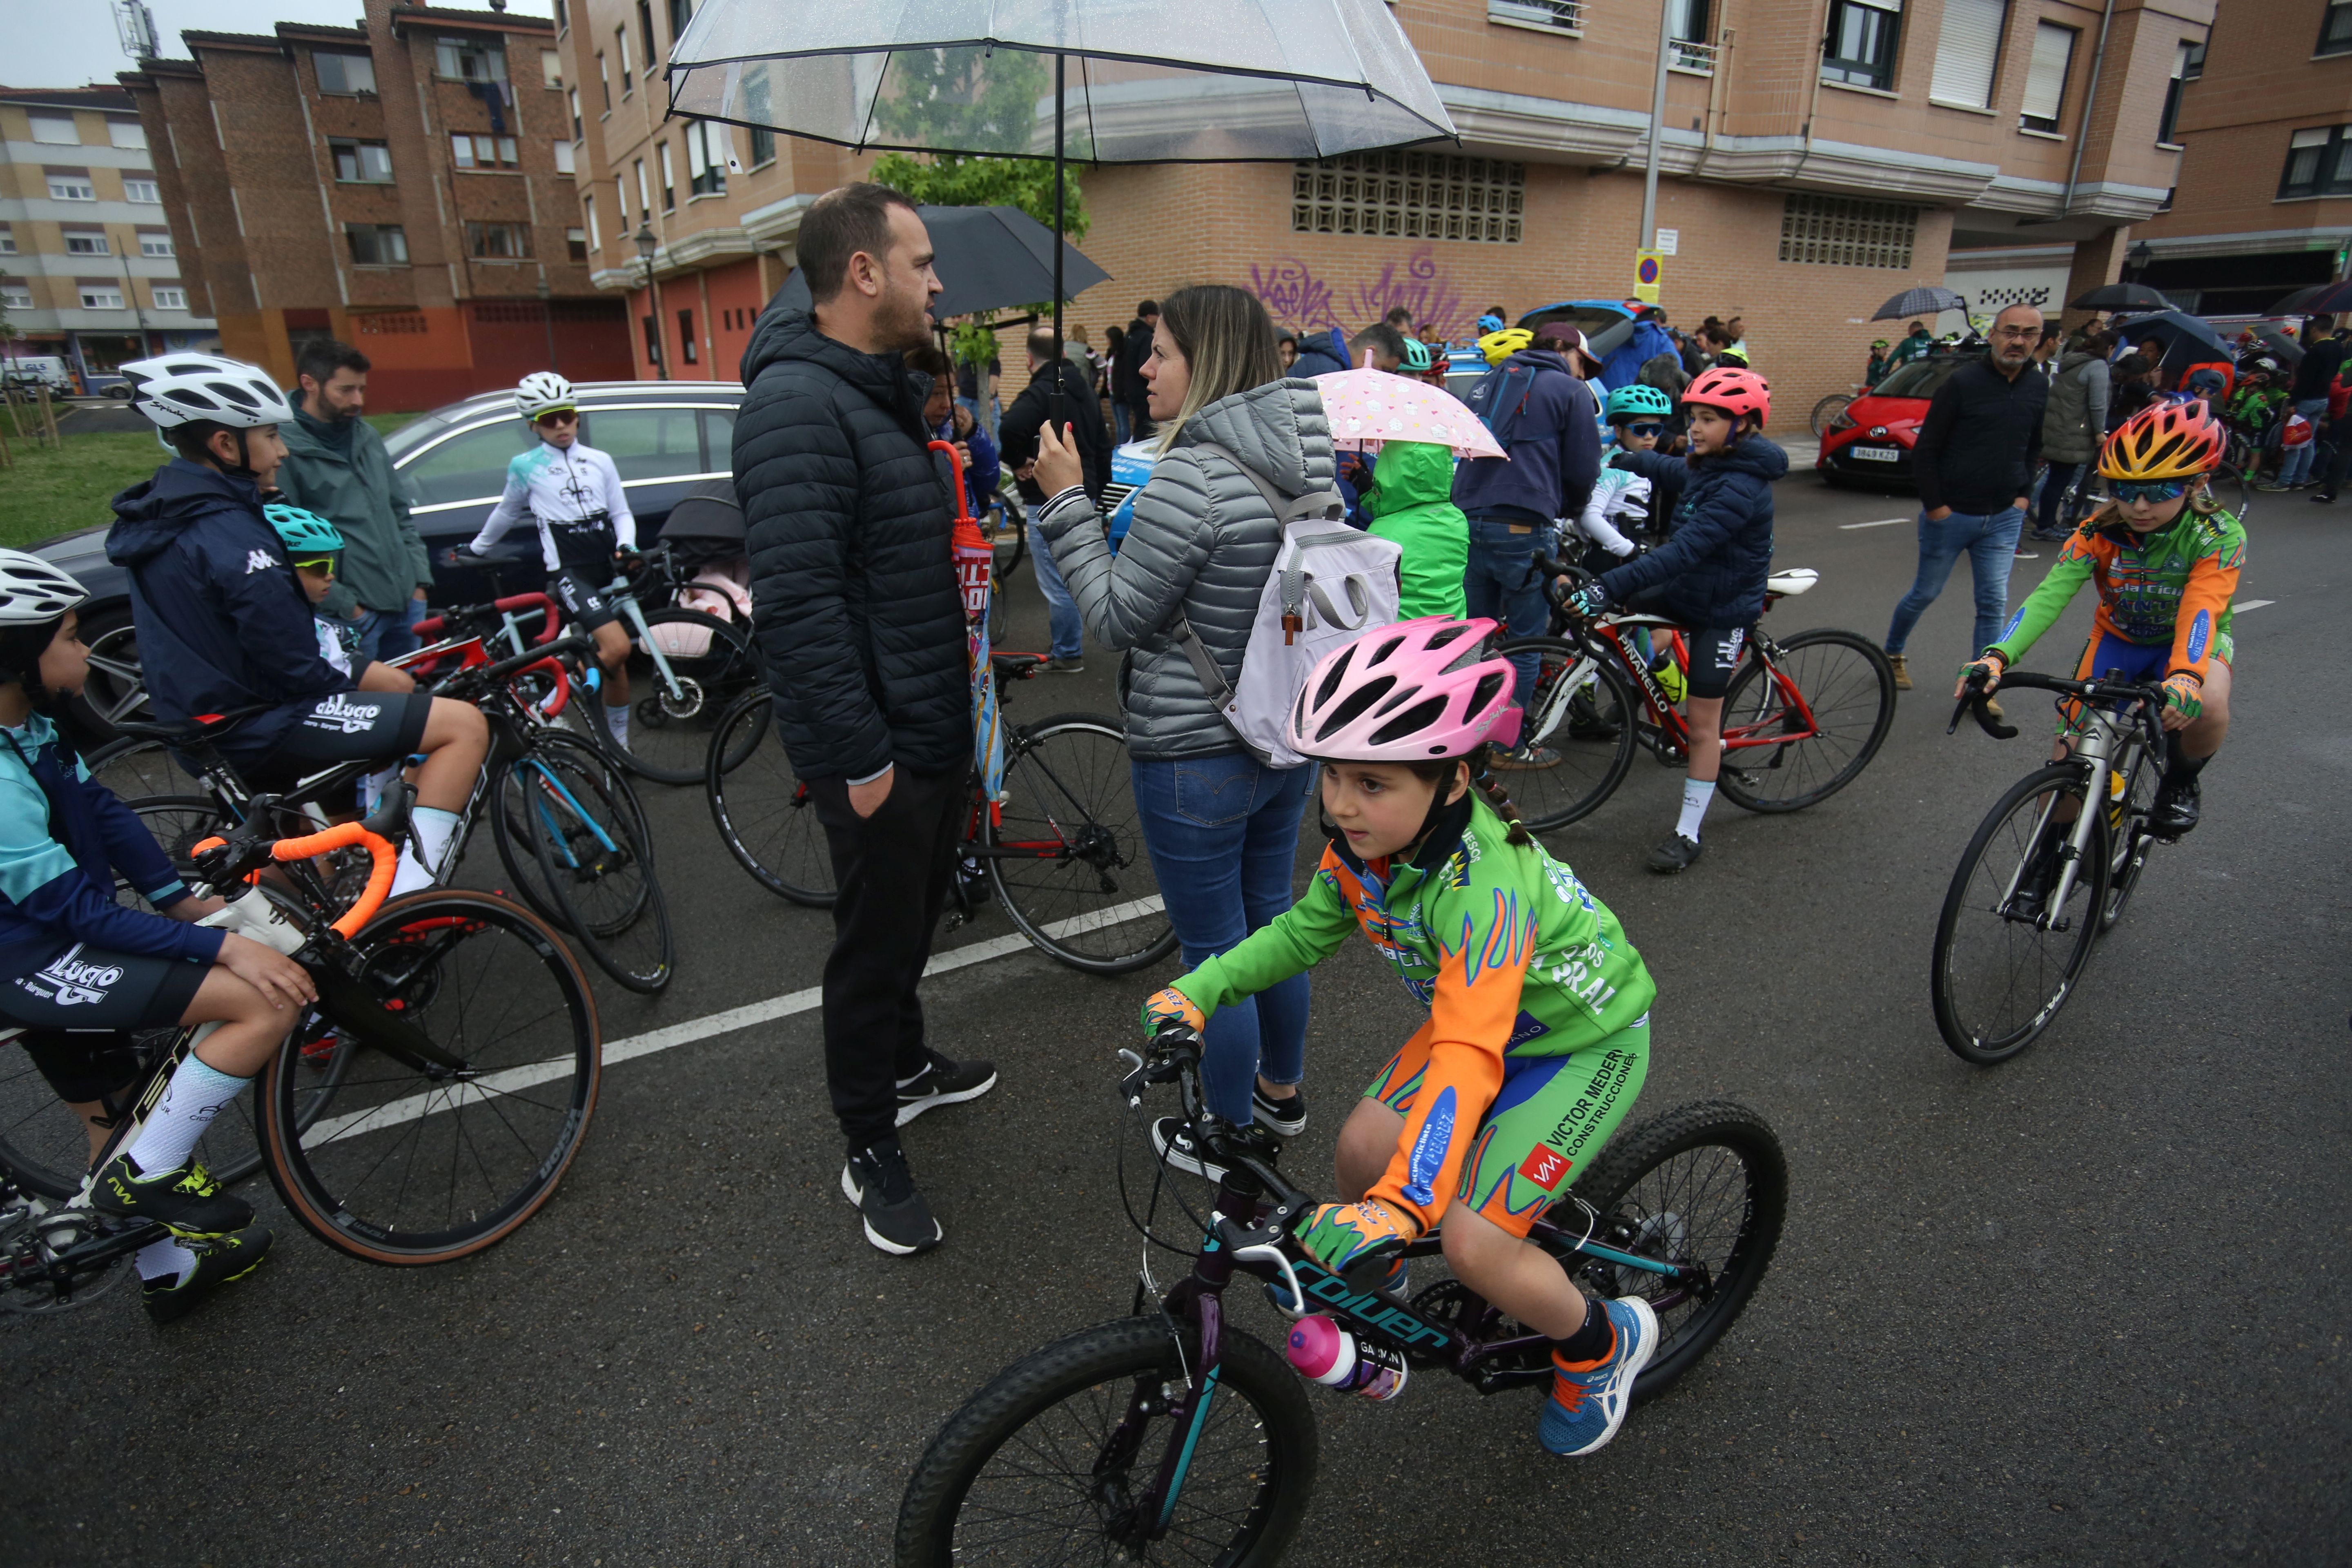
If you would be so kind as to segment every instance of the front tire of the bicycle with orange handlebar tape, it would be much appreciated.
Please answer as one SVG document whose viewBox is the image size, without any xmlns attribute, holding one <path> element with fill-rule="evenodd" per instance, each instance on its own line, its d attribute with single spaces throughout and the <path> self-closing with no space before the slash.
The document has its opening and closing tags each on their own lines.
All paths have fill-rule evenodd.
<svg viewBox="0 0 2352 1568">
<path fill-rule="evenodd" d="M 289 1048 L 280 1046 L 261 1070 L 261 1081 L 256 1084 L 266 1107 L 261 1140 L 263 1171 L 268 1171 L 270 1187 L 278 1190 L 278 1199 L 303 1229 L 334 1251 L 362 1262 L 390 1267 L 454 1262 L 515 1234 L 515 1229 L 520 1229 L 532 1215 L 546 1208 L 548 1199 L 555 1197 L 555 1187 L 562 1182 L 564 1171 L 569 1171 L 574 1157 L 579 1157 L 579 1147 L 588 1135 L 588 1124 L 595 1117 L 595 1100 L 604 1079 L 604 1039 L 597 1023 L 595 992 L 588 987 L 588 976 L 581 973 L 579 959 L 555 933 L 555 926 L 532 914 L 520 903 L 473 889 L 426 889 L 388 900 L 350 940 L 360 952 L 369 952 L 369 947 L 386 936 L 437 917 L 501 922 L 517 929 L 548 971 L 560 978 L 560 985 L 567 992 L 567 1006 L 572 1009 L 576 1058 L 572 1105 L 562 1124 L 564 1138 L 560 1150 L 539 1159 L 532 1182 L 524 1190 L 517 1190 L 503 1206 L 492 1211 L 487 1220 L 473 1222 L 461 1234 L 454 1234 L 437 1246 L 393 1244 L 383 1239 L 381 1227 L 365 1225 L 341 1199 L 327 1192 L 310 1164 L 310 1152 L 301 1145 L 301 1138 L 287 1138 L 285 1098 L 292 1091 L 285 1081 L 285 1067 Z"/>
</svg>

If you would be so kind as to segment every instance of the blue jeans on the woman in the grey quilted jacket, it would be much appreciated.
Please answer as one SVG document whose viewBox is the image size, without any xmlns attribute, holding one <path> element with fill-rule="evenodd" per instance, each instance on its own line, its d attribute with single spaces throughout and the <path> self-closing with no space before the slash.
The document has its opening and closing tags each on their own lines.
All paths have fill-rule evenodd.
<svg viewBox="0 0 2352 1568">
<path fill-rule="evenodd" d="M 1298 818 L 1312 766 L 1268 769 L 1256 757 L 1134 762 L 1143 846 L 1160 877 L 1185 969 L 1232 950 L 1291 907 Z M 1296 1084 L 1308 1063 L 1308 978 L 1277 980 L 1209 1018 L 1202 1088 L 1209 1110 L 1249 1126 L 1256 1074 Z"/>
</svg>

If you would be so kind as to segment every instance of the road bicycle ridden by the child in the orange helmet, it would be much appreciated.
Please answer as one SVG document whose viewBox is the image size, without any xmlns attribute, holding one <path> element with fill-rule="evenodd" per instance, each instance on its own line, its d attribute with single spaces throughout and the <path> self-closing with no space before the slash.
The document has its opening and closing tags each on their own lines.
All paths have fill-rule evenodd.
<svg viewBox="0 0 2352 1568">
<path fill-rule="evenodd" d="M 1962 1060 L 1990 1067 L 2030 1046 L 2074 992 L 2091 943 L 2131 903 L 2164 778 L 2164 689 L 2122 679 L 2058 679 L 2006 670 L 2002 693 L 2056 691 L 2067 757 L 2013 783 L 1959 856 L 1936 919 L 1936 1030 Z M 1999 741 L 2013 724 L 1985 712 L 1983 682 L 1952 710 Z M 2098 802 L 2098 809 L 2084 809 Z"/>
</svg>

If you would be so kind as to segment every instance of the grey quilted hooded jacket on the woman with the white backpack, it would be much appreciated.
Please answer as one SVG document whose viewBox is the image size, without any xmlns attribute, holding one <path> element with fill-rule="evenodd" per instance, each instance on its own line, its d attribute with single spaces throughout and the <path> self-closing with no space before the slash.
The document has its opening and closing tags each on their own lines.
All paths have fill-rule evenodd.
<svg viewBox="0 0 2352 1568">
<path fill-rule="evenodd" d="M 1167 625 L 1183 609 L 1225 679 L 1240 682 L 1282 527 L 1256 484 L 1223 456 L 1200 451 L 1204 440 L 1284 496 L 1331 489 L 1331 423 L 1315 383 L 1294 376 L 1218 397 L 1185 421 L 1150 484 L 1136 491 L 1134 524 L 1115 557 L 1103 520 L 1077 491 L 1037 512 L 1087 630 L 1103 646 L 1127 649 L 1120 708 L 1138 762 L 1242 750 Z"/>
</svg>

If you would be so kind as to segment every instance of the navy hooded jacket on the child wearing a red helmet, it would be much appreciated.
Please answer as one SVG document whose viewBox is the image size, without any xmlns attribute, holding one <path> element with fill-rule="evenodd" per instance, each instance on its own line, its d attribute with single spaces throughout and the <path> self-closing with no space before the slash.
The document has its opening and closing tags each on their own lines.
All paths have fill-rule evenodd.
<svg viewBox="0 0 2352 1568">
<path fill-rule="evenodd" d="M 1656 588 L 1644 609 L 1691 630 L 1755 625 L 1771 574 L 1771 482 L 1785 473 L 1788 454 L 1762 435 L 1700 458 L 1682 487 L 1672 536 L 1602 574 L 1602 590 L 1623 604 Z"/>
</svg>

